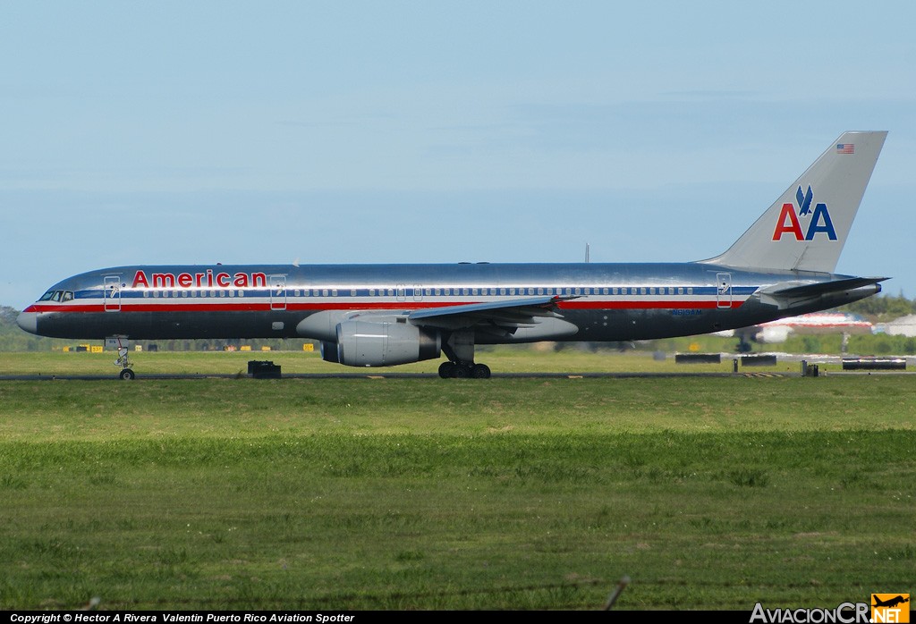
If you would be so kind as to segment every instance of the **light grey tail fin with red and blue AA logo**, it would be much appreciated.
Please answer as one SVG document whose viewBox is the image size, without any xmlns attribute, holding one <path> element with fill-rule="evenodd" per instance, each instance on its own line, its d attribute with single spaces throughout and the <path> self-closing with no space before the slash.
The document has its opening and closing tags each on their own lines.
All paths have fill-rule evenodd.
<svg viewBox="0 0 916 624">
<path fill-rule="evenodd" d="M 728 251 L 703 262 L 833 273 L 887 135 L 841 134 Z"/>
</svg>

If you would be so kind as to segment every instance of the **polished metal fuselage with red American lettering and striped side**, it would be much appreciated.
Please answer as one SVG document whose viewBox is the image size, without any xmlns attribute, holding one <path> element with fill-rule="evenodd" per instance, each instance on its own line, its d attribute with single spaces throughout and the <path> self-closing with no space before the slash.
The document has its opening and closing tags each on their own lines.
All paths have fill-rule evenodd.
<svg viewBox="0 0 916 624">
<path fill-rule="evenodd" d="M 324 327 L 339 318 L 560 296 L 556 314 L 565 329 L 507 334 L 482 327 L 475 330 L 476 342 L 658 339 L 756 325 L 880 289 L 810 297 L 791 307 L 759 296 L 771 285 L 845 277 L 703 263 L 137 265 L 63 280 L 19 322 L 30 331 L 34 325 L 33 333 L 71 339 L 324 340 L 330 338 Z M 51 300 L 54 293 L 71 295 Z M 307 321 L 318 314 L 328 323 Z"/>
</svg>

